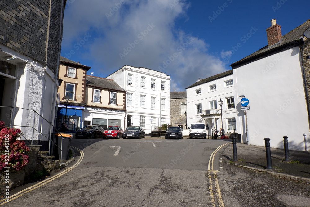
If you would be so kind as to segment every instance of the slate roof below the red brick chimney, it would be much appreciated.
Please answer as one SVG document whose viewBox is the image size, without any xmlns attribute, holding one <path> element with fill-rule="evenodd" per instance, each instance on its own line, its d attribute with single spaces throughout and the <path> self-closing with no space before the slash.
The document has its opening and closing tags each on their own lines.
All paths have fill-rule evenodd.
<svg viewBox="0 0 310 207">
<path fill-rule="evenodd" d="M 246 56 L 245 58 L 241 59 L 240 61 L 237 61 L 235 63 L 232 63 L 230 66 L 232 68 L 237 68 L 242 65 L 246 65 L 250 62 L 259 60 L 265 56 L 269 56 L 271 54 L 279 52 L 282 48 L 289 49 L 291 47 L 295 47 L 298 44 L 302 43 L 303 41 L 300 39 L 300 37 L 303 35 L 303 33 L 310 27 L 310 19 L 308 19 L 305 23 L 300 25 L 299 27 L 293 29 L 289 33 L 285 34 L 282 36 L 282 41 L 281 43 L 268 48 L 268 45 L 263 47 L 262 49 L 250 54 L 249 56 Z M 266 37 L 267 40 L 267 37 Z"/>
</svg>

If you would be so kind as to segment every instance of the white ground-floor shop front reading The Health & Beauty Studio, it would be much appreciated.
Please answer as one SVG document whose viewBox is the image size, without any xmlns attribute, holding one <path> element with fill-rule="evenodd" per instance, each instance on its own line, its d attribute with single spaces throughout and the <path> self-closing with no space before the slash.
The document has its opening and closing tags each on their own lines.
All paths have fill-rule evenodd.
<svg viewBox="0 0 310 207">
<path fill-rule="evenodd" d="M 108 126 L 121 126 L 125 128 L 125 110 L 85 107 L 83 113 L 84 126 L 100 125 L 104 129 Z"/>
</svg>

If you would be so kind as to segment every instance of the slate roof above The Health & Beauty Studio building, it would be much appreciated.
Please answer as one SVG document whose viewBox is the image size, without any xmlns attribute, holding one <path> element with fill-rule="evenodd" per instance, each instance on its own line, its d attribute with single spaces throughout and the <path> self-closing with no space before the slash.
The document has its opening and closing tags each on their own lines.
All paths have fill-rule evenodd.
<svg viewBox="0 0 310 207">
<path fill-rule="evenodd" d="M 123 88 L 121 88 L 114 80 L 99 78 L 95 76 L 86 76 L 86 84 L 89 86 L 93 86 L 95 88 L 105 88 L 116 91 L 126 92 Z"/>
</svg>

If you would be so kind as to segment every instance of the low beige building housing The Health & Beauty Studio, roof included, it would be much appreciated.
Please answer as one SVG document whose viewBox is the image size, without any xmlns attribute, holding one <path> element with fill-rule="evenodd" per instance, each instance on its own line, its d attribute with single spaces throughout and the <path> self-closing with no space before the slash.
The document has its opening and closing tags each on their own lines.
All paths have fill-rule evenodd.
<svg viewBox="0 0 310 207">
<path fill-rule="evenodd" d="M 83 126 L 100 125 L 125 128 L 126 91 L 111 79 L 87 75 L 87 105 L 83 111 Z"/>
</svg>

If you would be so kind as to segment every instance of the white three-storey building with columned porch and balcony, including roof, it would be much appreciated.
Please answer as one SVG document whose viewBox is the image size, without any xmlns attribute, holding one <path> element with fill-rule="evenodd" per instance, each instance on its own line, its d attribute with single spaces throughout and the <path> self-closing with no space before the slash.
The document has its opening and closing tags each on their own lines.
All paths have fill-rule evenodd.
<svg viewBox="0 0 310 207">
<path fill-rule="evenodd" d="M 214 129 L 223 128 L 225 132 L 236 133 L 235 88 L 232 70 L 202 79 L 186 88 L 187 94 L 187 123 L 202 122 L 209 128 L 211 136 Z M 222 100 L 222 115 L 219 101 Z"/>
</svg>

